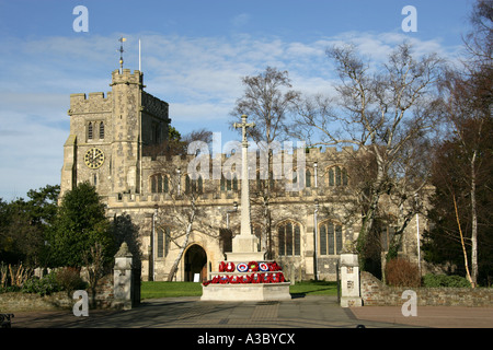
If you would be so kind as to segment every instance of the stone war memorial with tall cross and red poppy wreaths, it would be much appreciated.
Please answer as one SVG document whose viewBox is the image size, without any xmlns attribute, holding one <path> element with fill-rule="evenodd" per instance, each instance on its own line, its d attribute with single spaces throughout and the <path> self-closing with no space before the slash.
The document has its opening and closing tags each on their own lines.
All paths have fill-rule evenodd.
<svg viewBox="0 0 493 350">
<path fill-rule="evenodd" d="M 203 283 L 203 301 L 276 301 L 289 300 L 289 282 L 284 281 L 280 267 L 275 261 L 265 261 L 265 253 L 259 252 L 259 238 L 252 234 L 250 218 L 250 186 L 248 172 L 246 128 L 255 125 L 234 122 L 234 128 L 242 128 L 242 166 L 241 166 L 241 230 L 232 240 L 232 252 L 226 253 L 218 271 Z"/>
</svg>

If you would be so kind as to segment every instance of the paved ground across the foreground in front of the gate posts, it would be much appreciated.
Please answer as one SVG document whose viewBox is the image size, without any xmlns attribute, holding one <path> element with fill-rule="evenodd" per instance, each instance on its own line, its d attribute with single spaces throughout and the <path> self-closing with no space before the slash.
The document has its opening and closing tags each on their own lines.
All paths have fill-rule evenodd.
<svg viewBox="0 0 493 350">
<path fill-rule="evenodd" d="M 144 301 L 129 311 L 14 313 L 12 328 L 413 328 L 493 327 L 493 307 L 419 306 L 404 317 L 399 306 L 343 308 L 336 298 L 282 302 L 203 302 L 199 298 Z"/>
</svg>

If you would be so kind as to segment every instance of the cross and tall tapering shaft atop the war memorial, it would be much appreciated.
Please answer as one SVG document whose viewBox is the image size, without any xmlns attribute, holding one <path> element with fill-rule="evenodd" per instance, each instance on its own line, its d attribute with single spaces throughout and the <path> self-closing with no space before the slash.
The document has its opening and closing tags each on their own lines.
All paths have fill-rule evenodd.
<svg viewBox="0 0 493 350">
<path fill-rule="evenodd" d="M 248 162 L 248 149 L 249 142 L 246 141 L 246 128 L 255 127 L 254 122 L 246 122 L 246 116 L 241 116 L 241 122 L 234 122 L 234 129 L 242 128 L 242 164 L 241 164 L 241 231 L 242 236 L 252 235 L 252 224 L 250 218 L 250 188 L 249 188 L 249 162 Z"/>
</svg>

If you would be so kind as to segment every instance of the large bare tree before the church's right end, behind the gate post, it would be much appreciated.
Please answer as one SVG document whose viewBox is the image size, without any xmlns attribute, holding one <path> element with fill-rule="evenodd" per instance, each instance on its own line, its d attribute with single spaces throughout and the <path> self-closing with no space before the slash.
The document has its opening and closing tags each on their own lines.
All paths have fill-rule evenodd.
<svg viewBox="0 0 493 350">
<path fill-rule="evenodd" d="M 360 198 L 357 248 L 363 254 L 375 220 L 383 211 L 382 196 L 391 194 L 402 209 L 409 209 L 399 213 L 403 215 L 401 231 L 416 209 L 413 195 L 425 185 L 425 167 L 416 172 L 413 166 L 426 156 L 423 140 L 437 124 L 434 92 L 442 60 L 436 55 L 415 59 L 405 43 L 391 52 L 387 63 L 375 68 L 351 45 L 326 52 L 341 78 L 337 96 L 305 98 L 298 110 L 298 135 L 313 145 L 353 145 L 371 160 L 370 176 L 355 194 Z"/>
</svg>

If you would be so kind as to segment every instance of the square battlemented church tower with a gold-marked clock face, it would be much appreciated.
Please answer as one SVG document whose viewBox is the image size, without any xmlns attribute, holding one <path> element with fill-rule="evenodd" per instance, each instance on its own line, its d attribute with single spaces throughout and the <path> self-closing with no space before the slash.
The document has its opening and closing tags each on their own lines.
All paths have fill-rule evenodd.
<svg viewBox="0 0 493 350">
<path fill-rule="evenodd" d="M 142 191 L 142 148 L 168 136 L 169 105 L 144 91 L 142 73 L 112 73 L 111 92 L 70 95 L 61 195 L 90 182 L 102 197 Z"/>
</svg>

